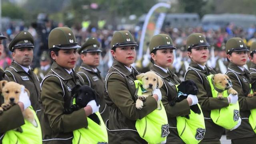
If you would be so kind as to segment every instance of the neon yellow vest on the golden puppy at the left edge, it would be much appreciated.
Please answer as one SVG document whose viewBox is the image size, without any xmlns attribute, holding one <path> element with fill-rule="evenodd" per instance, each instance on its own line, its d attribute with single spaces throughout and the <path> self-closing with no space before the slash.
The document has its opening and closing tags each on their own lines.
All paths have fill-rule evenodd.
<svg viewBox="0 0 256 144">
<path fill-rule="evenodd" d="M 22 132 L 18 132 L 16 130 L 9 130 L 5 132 L 4 138 L 2 140 L 3 144 L 42 144 L 42 131 L 40 122 L 32 106 L 29 106 L 28 108 L 32 110 L 38 126 L 35 127 L 27 120 L 24 120 L 25 124 L 20 126 Z"/>
</svg>

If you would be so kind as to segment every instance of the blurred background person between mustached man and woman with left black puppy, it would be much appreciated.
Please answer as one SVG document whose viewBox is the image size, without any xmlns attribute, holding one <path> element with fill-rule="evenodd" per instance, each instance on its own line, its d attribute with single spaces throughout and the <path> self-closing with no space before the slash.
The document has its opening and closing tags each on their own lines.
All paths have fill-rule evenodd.
<svg viewBox="0 0 256 144">
<path fill-rule="evenodd" d="M 48 52 L 42 52 L 40 57 L 40 67 L 34 69 L 34 73 L 38 76 L 40 82 L 42 82 L 44 76 L 46 76 L 51 69 L 51 62 Z"/>
</svg>

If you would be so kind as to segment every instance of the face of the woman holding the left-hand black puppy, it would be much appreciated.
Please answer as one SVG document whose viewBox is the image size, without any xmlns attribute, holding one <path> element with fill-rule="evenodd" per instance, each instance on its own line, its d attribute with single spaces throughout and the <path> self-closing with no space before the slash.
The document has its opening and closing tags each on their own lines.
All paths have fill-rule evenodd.
<svg viewBox="0 0 256 144">
<path fill-rule="evenodd" d="M 77 50 L 76 49 L 60 49 L 58 52 L 58 56 L 52 51 L 51 56 L 55 62 L 66 68 L 67 70 L 71 70 L 76 65 L 77 60 Z"/>
</svg>

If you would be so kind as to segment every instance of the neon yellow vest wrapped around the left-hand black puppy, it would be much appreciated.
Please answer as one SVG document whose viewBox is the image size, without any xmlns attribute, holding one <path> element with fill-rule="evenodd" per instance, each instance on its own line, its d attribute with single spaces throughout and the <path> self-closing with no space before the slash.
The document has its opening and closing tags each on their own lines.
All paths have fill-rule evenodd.
<svg viewBox="0 0 256 144">
<path fill-rule="evenodd" d="M 73 99 L 73 104 L 76 103 L 76 99 Z M 73 131 L 73 144 L 107 144 L 108 143 L 108 132 L 106 126 L 99 112 L 95 113 L 100 119 L 100 125 L 96 122 L 87 118 L 88 128 L 80 128 Z"/>
</svg>

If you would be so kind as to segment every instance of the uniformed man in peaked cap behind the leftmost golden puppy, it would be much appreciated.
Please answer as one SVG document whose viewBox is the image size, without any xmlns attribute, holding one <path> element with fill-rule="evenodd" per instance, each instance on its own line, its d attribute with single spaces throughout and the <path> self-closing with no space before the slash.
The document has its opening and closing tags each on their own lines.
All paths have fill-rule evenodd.
<svg viewBox="0 0 256 144">
<path fill-rule="evenodd" d="M 10 81 L 24 85 L 30 92 L 31 105 L 40 117 L 38 97 L 41 94 L 39 80 L 31 70 L 33 60 L 34 39 L 28 31 L 19 32 L 9 45 L 12 52 L 13 62 L 6 68 L 6 75 Z"/>
</svg>

